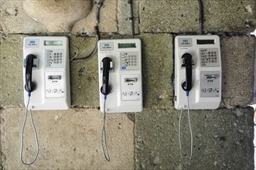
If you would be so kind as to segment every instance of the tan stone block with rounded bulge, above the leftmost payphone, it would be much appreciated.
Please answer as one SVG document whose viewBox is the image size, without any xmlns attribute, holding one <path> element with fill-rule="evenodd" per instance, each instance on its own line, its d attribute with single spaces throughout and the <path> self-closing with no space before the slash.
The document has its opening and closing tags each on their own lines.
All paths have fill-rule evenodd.
<svg viewBox="0 0 256 170">
<path fill-rule="evenodd" d="M 78 0 L 81 5 L 84 5 L 84 0 Z M 78 3 L 77 1 L 77 3 Z M 93 0 L 86 0 L 94 3 Z M 26 5 L 33 5 L 37 2 L 32 2 L 31 4 L 24 1 Z M 40 32 L 72 32 L 73 34 L 81 32 L 94 32 L 95 26 L 95 12 L 97 3 L 92 4 L 92 8 L 88 13 L 88 10 L 84 10 L 84 15 L 77 15 L 76 5 L 73 2 L 61 2 L 51 0 L 49 3 L 44 3 L 39 1 L 39 4 L 42 5 L 43 10 L 52 8 L 51 3 L 56 5 L 63 5 L 63 8 L 70 9 L 73 8 L 75 14 L 66 15 L 66 20 L 60 22 L 58 17 L 53 17 L 53 14 L 41 12 L 40 17 L 30 17 L 32 11 L 29 10 L 29 7 L 25 6 L 26 10 L 23 8 L 23 1 L 20 0 L 1 0 L 0 5 L 0 27 L 5 33 L 40 33 Z M 69 4 L 71 3 L 71 5 Z M 100 11 L 100 32 L 117 32 L 118 23 L 117 23 L 117 13 L 118 13 L 117 0 L 104 1 L 104 5 L 101 7 Z M 90 9 L 90 8 L 89 8 Z M 61 10 L 61 8 L 60 8 Z M 86 12 L 87 11 L 87 12 Z M 27 14 L 29 13 L 29 15 Z M 50 13 L 50 12 L 49 12 Z M 71 11 L 72 13 L 72 11 Z M 87 15 L 88 13 L 88 15 Z M 81 19 L 81 17 L 83 17 Z M 58 19 L 56 22 L 47 22 L 48 18 Z M 77 17 L 74 21 L 71 21 L 74 17 Z M 45 22 L 43 22 L 44 20 Z M 77 19 L 80 19 L 77 21 Z M 67 22 L 69 21 L 69 22 Z M 73 23 L 75 22 L 75 23 Z"/>
</svg>

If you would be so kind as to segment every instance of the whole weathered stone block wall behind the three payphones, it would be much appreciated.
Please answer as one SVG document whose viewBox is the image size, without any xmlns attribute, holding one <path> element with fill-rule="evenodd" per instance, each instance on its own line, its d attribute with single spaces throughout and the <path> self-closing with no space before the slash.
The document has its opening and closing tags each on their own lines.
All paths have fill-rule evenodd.
<svg viewBox="0 0 256 170">
<path fill-rule="evenodd" d="M 25 1 L 29 2 L 29 1 Z M 183 164 L 179 155 L 179 111 L 173 108 L 173 39 L 198 32 L 196 0 L 134 0 L 136 38 L 142 39 L 144 110 L 108 114 L 111 162 L 101 153 L 101 112 L 98 110 L 97 55 L 70 63 L 72 109 L 34 111 L 39 136 L 39 158 L 34 165 L 19 161 L 19 138 L 24 117 L 22 39 L 31 35 L 68 36 L 70 58 L 87 56 L 95 45 L 94 12 L 98 1 L 82 1 L 87 14 L 76 22 L 44 24 L 31 18 L 22 1 L 0 0 L 0 127 L 1 167 L 90 169 L 253 169 L 253 103 L 256 28 L 254 0 L 204 0 L 204 31 L 220 36 L 223 65 L 222 102 L 217 110 L 193 110 L 193 159 Z M 49 1 L 63 8 L 77 8 Z M 86 5 L 87 4 L 87 5 Z M 74 10 L 75 11 L 75 10 Z M 86 10 L 84 10 L 86 11 Z M 84 15 L 84 16 L 83 16 Z M 74 17 L 75 15 L 67 15 Z M 83 18 L 84 17 L 84 18 Z M 55 18 L 53 18 L 54 21 Z M 127 1 L 105 0 L 101 8 L 102 39 L 129 36 Z M 68 25 L 69 24 L 69 25 Z M 51 26 L 48 26 L 51 25 Z M 187 117 L 184 114 L 183 128 Z M 26 128 L 26 160 L 35 154 L 30 122 Z M 189 134 L 184 131 L 189 155 Z"/>
</svg>

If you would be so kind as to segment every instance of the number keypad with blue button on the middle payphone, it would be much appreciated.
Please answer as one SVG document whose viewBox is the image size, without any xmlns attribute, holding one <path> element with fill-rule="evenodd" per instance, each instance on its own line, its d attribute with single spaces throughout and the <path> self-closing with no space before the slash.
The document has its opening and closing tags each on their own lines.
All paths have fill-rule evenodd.
<svg viewBox="0 0 256 170">
<path fill-rule="evenodd" d="M 121 52 L 121 70 L 139 70 L 138 52 Z"/>
</svg>

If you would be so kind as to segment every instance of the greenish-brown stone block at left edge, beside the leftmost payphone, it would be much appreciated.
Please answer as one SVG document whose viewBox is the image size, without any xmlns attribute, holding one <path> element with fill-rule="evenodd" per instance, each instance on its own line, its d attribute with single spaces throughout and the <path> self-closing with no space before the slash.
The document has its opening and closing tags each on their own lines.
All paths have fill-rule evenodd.
<svg viewBox="0 0 256 170">
<path fill-rule="evenodd" d="M 0 106 L 22 106 L 22 46 L 25 36 L 0 35 Z"/>
</svg>

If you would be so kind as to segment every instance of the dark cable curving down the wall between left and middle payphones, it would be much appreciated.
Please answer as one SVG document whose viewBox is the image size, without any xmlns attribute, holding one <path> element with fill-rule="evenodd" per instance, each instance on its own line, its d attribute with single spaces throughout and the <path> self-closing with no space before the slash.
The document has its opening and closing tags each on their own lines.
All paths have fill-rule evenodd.
<svg viewBox="0 0 256 170">
<path fill-rule="evenodd" d="M 84 56 L 81 58 L 76 58 L 76 56 L 77 56 L 77 54 L 76 54 L 76 56 L 74 56 L 72 59 L 70 59 L 71 62 L 77 63 L 80 61 L 84 61 L 85 59 L 88 59 L 88 58 L 94 56 L 94 54 L 97 52 L 97 42 L 100 40 L 100 33 L 99 33 L 100 9 L 103 6 L 103 3 L 104 3 L 104 0 L 100 0 L 97 3 L 97 7 L 96 7 L 96 13 L 95 13 L 96 26 L 94 26 L 96 42 L 95 42 L 94 50 L 88 56 Z"/>
</svg>

